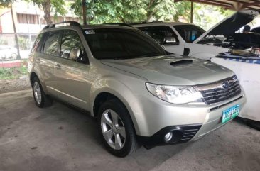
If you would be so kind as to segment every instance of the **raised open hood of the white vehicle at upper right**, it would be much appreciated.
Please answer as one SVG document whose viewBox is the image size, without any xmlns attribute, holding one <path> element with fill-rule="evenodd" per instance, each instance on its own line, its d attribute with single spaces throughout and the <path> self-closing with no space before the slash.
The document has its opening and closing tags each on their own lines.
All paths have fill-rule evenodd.
<svg viewBox="0 0 260 171">
<path fill-rule="evenodd" d="M 238 31 L 239 28 L 242 28 L 242 26 L 253 21 L 254 18 L 256 18 L 258 15 L 259 11 L 249 9 L 234 13 L 232 16 L 225 18 L 224 20 L 220 21 L 220 23 L 217 23 L 215 26 L 210 28 L 210 30 L 200 35 L 200 37 L 197 38 L 194 43 L 197 43 L 203 38 L 209 37 L 210 35 L 224 36 L 227 38 L 229 35 L 232 35 Z"/>
</svg>

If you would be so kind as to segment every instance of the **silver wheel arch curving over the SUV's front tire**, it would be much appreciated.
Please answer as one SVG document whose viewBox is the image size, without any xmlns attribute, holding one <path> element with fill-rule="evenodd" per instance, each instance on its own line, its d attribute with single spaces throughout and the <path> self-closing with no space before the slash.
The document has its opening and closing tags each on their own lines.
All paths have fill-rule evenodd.
<svg viewBox="0 0 260 171">
<path fill-rule="evenodd" d="M 138 97 L 134 96 L 134 93 L 126 84 L 115 79 L 107 78 L 98 82 L 100 87 L 93 86 L 90 90 L 90 112 L 92 116 L 97 116 L 98 107 L 105 99 L 119 99 L 129 112 L 136 134 L 141 135 L 143 128 L 146 129 L 146 118 L 141 114 L 142 109 Z"/>
</svg>

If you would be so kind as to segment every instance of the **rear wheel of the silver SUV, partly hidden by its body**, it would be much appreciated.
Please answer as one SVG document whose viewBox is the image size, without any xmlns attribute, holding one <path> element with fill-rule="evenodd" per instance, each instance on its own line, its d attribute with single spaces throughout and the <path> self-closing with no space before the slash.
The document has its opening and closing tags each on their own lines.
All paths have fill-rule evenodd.
<svg viewBox="0 0 260 171">
<path fill-rule="evenodd" d="M 45 94 L 38 77 L 33 77 L 32 88 L 33 88 L 33 98 L 38 107 L 43 108 L 43 107 L 51 106 L 53 104 L 53 99 L 51 99 L 50 96 L 47 96 Z"/>
</svg>

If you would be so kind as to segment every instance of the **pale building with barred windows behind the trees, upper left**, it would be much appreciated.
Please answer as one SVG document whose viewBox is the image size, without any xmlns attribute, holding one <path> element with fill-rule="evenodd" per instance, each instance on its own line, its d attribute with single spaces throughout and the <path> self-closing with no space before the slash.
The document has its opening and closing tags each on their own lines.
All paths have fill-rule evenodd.
<svg viewBox="0 0 260 171">
<path fill-rule="evenodd" d="M 26 1 L 15 1 L 13 3 L 13 19 L 16 24 L 16 33 L 36 34 L 46 26 L 44 12 L 36 4 Z M 61 21 L 80 21 L 72 11 L 67 10 L 65 16 L 55 16 L 51 13 L 53 23 Z M 11 17 L 11 9 L 0 9 L 0 33 L 14 33 Z"/>
</svg>

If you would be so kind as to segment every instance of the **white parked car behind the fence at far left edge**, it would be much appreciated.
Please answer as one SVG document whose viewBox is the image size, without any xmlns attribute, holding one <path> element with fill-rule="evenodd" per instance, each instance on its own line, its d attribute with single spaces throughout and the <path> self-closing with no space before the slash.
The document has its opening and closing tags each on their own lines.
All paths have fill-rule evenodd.
<svg viewBox="0 0 260 171">
<path fill-rule="evenodd" d="M 9 45 L 0 45 L 0 60 L 16 60 L 17 49 Z"/>
</svg>

